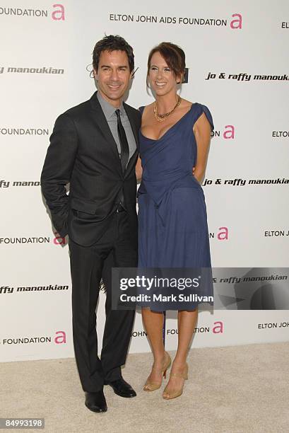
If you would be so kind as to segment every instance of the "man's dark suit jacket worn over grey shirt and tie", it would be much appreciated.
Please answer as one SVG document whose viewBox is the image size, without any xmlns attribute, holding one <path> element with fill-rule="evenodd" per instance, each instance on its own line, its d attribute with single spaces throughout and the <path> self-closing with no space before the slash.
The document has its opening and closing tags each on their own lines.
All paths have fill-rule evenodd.
<svg viewBox="0 0 289 433">
<path fill-rule="evenodd" d="M 124 109 L 137 144 L 124 173 L 97 92 L 60 115 L 50 137 L 42 192 L 55 229 L 81 246 L 91 246 L 102 236 L 122 194 L 131 236 L 137 236 L 135 165 L 141 114 L 125 103 Z"/>
</svg>

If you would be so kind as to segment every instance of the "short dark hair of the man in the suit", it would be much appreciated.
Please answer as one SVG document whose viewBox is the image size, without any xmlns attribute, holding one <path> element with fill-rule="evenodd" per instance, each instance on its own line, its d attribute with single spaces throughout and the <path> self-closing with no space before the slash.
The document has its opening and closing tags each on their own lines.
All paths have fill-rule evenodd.
<svg viewBox="0 0 289 433">
<path fill-rule="evenodd" d="M 95 71 L 98 71 L 98 63 L 100 61 L 100 54 L 102 51 L 124 51 L 129 59 L 129 71 L 134 70 L 134 50 L 124 40 L 122 36 L 109 35 L 102 37 L 101 40 L 96 42 L 93 49 L 93 67 Z"/>
</svg>

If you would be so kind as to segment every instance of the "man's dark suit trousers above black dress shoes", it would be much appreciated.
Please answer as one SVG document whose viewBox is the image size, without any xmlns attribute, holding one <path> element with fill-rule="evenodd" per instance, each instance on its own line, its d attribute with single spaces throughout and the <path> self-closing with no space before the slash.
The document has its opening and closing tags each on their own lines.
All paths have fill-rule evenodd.
<svg viewBox="0 0 289 433">
<path fill-rule="evenodd" d="M 69 240 L 72 279 L 73 345 L 83 391 L 96 392 L 119 379 L 134 325 L 135 311 L 112 310 L 112 267 L 137 266 L 137 241 L 126 212 L 116 212 L 93 246 Z M 106 287 L 105 330 L 98 357 L 96 308 L 100 279 Z"/>
</svg>

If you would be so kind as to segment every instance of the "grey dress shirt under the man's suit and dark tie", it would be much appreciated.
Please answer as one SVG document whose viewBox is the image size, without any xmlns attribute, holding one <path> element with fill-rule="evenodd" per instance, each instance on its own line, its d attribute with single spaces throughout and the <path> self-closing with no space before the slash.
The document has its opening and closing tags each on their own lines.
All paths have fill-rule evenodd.
<svg viewBox="0 0 289 433">
<path fill-rule="evenodd" d="M 98 100 L 100 106 L 102 108 L 103 114 L 107 120 L 108 126 L 110 127 L 110 131 L 112 132 L 112 136 L 114 137 L 114 142 L 117 144 L 117 150 L 119 151 L 119 158 L 121 154 L 121 147 L 119 142 L 119 134 L 117 133 L 117 115 L 115 107 L 113 107 L 110 103 L 107 102 L 104 98 L 102 98 L 100 92 L 97 93 Z M 122 121 L 122 126 L 124 127 L 124 131 L 126 133 L 126 139 L 129 144 L 129 159 L 134 155 L 136 151 L 136 139 L 134 138 L 134 133 L 131 129 L 131 124 L 129 123 L 129 117 L 126 115 L 126 110 L 124 110 L 124 104 L 122 103 L 119 107 L 120 118 Z"/>
</svg>

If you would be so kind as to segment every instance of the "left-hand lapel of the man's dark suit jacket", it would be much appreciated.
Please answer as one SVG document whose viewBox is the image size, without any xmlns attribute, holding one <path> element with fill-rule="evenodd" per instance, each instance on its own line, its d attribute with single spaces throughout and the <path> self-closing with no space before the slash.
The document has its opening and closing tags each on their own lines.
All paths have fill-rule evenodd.
<svg viewBox="0 0 289 433">
<path fill-rule="evenodd" d="M 114 159 L 116 161 L 116 165 L 118 170 L 122 173 L 122 164 L 119 159 L 119 151 L 117 149 L 117 143 L 114 142 L 114 138 L 112 132 L 110 131 L 110 127 L 108 126 L 107 120 L 105 118 L 104 112 L 98 102 L 97 92 L 93 94 L 90 98 L 90 104 L 93 112 L 93 122 L 98 126 L 102 136 L 105 138 L 107 143 L 110 145 L 110 149 L 112 150 L 112 154 L 114 155 Z"/>
</svg>

